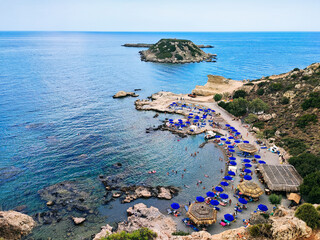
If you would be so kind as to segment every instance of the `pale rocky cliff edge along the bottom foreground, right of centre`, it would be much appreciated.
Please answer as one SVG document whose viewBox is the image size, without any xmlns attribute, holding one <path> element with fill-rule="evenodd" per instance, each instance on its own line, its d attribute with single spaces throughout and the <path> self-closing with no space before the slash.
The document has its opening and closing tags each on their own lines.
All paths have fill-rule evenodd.
<svg viewBox="0 0 320 240">
<path fill-rule="evenodd" d="M 261 239 L 252 237 L 249 229 L 245 227 L 226 230 L 219 234 L 213 234 L 206 231 L 193 232 L 187 236 L 174 236 L 172 233 L 178 231 L 177 224 L 171 217 L 162 214 L 155 207 L 148 208 L 145 204 L 139 203 L 127 210 L 128 219 L 118 224 L 119 231 L 132 232 L 139 228 L 147 227 L 157 233 L 157 239 L 173 240 L 237 240 L 237 239 Z M 305 222 L 294 216 L 294 210 L 280 206 L 269 219 L 264 218 L 260 213 L 251 215 L 252 224 L 269 224 L 270 237 L 263 239 L 274 240 L 297 240 L 307 239 L 313 234 L 313 239 L 320 239 L 319 234 L 312 232 L 312 229 Z M 95 235 L 95 240 L 113 233 L 112 228 L 103 226 L 100 233 Z"/>
</svg>

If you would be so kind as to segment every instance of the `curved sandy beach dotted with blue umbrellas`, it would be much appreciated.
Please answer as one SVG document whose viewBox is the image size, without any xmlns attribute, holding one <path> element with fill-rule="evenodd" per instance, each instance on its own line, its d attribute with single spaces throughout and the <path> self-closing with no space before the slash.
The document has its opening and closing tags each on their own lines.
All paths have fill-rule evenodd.
<svg viewBox="0 0 320 240">
<path fill-rule="evenodd" d="M 237 147 L 237 144 L 235 144 L 234 140 L 238 138 L 239 141 L 249 141 L 250 144 L 253 144 L 257 148 L 257 152 L 255 154 L 259 154 L 261 156 L 261 159 L 265 161 L 267 164 L 272 165 L 278 165 L 280 164 L 279 161 L 279 155 L 276 153 L 272 153 L 268 150 L 270 146 L 265 146 L 261 148 L 260 145 L 257 144 L 256 137 L 249 131 L 249 126 L 247 124 L 242 124 L 240 120 L 237 120 L 234 118 L 234 116 L 230 115 L 228 112 L 226 112 L 224 109 L 220 108 L 217 103 L 213 100 L 212 96 L 197 96 L 196 98 L 188 97 L 186 94 L 174 94 L 170 92 L 159 92 L 156 94 L 153 94 L 151 96 L 150 100 L 137 100 L 136 101 L 136 108 L 138 110 L 145 110 L 145 111 L 157 111 L 157 112 L 165 112 L 165 113 L 172 113 L 172 114 L 180 114 L 181 120 L 179 119 L 171 119 L 171 125 L 170 121 L 166 122 L 165 124 L 168 126 L 167 130 L 173 131 L 173 132 L 182 132 L 185 134 L 200 134 L 209 130 L 218 132 L 221 134 L 221 137 L 227 138 L 230 136 L 234 136 L 234 139 L 230 139 L 229 141 L 232 142 L 234 147 L 234 152 L 231 153 L 233 157 L 235 157 L 236 162 L 236 175 L 233 177 L 231 181 L 227 181 L 229 183 L 229 186 L 223 187 L 224 192 L 228 194 L 229 198 L 226 199 L 228 204 L 226 206 L 219 206 L 220 211 L 217 213 L 217 222 L 215 224 L 212 224 L 207 228 L 207 231 L 211 234 L 213 233 L 219 233 L 222 231 L 225 231 L 229 228 L 238 228 L 241 226 L 244 226 L 244 221 L 246 219 L 250 218 L 250 213 L 257 210 L 257 206 L 259 204 L 264 204 L 268 207 L 269 211 L 273 209 L 273 205 L 270 204 L 268 200 L 268 196 L 266 194 L 262 194 L 260 196 L 259 201 L 256 202 L 249 202 L 246 204 L 247 209 L 242 210 L 241 213 L 237 213 L 237 220 L 235 222 L 231 223 L 231 226 L 222 227 L 219 224 L 219 221 L 224 218 L 224 215 L 227 213 L 234 214 L 235 213 L 235 205 L 238 202 L 238 199 L 234 196 L 234 190 L 240 183 L 241 177 L 239 176 L 240 169 L 243 167 L 243 159 L 244 157 L 241 157 L 238 155 L 240 150 Z M 174 103 L 174 104 L 173 104 Z M 186 106 L 186 107 L 181 107 Z M 199 110 L 200 109 L 200 110 Z M 202 110 L 202 111 L 201 111 Z M 209 110 L 208 112 L 205 112 L 205 110 Z M 193 118 L 189 118 L 188 116 L 193 116 Z M 208 117 L 206 119 L 202 119 L 199 117 L 199 121 L 193 122 L 192 120 L 195 119 L 195 116 L 201 116 L 203 114 L 207 114 Z M 190 124 L 186 124 L 186 122 L 190 122 Z M 180 122 L 180 126 L 176 126 L 177 123 Z M 186 125 L 186 127 L 181 127 L 183 125 Z M 237 130 L 237 136 L 234 135 L 234 132 L 230 131 L 230 127 L 226 127 L 226 125 L 230 125 L 234 127 Z M 190 127 L 190 126 L 196 126 L 196 128 Z M 193 132 L 190 132 L 190 129 L 194 129 Z M 208 144 L 217 144 L 213 143 L 212 140 L 210 140 Z M 219 147 L 224 151 L 224 155 L 227 156 L 227 154 L 230 154 L 230 152 L 227 151 L 228 147 L 227 144 L 225 144 L 223 141 L 219 142 Z M 229 155 L 230 156 L 230 155 Z M 250 158 L 252 159 L 252 158 Z M 212 163 L 216 162 L 217 159 L 212 159 Z M 224 159 L 226 164 L 226 169 L 228 169 L 228 157 L 225 157 Z M 259 187 L 264 191 L 266 186 L 261 183 L 258 179 L 257 174 L 255 173 L 255 169 L 258 167 L 258 164 L 251 163 L 253 166 L 250 168 L 253 172 L 252 176 L 252 182 L 255 182 L 259 185 Z M 224 175 L 227 175 L 225 173 Z M 250 175 L 250 174 L 249 174 Z M 222 180 L 222 179 L 221 179 Z M 196 179 L 195 179 L 196 181 Z M 246 180 L 244 180 L 246 181 Z M 201 186 L 201 184 L 200 184 Z M 213 186 L 215 187 L 215 186 Z M 206 197 L 206 192 L 211 191 L 211 189 L 204 189 L 202 197 Z M 189 202 L 195 201 L 196 196 L 194 196 L 194 199 L 186 199 L 186 202 L 179 202 L 181 206 L 189 205 Z M 284 197 L 285 198 L 285 197 Z M 173 199 L 174 200 L 174 199 Z M 231 201 L 230 201 L 231 200 Z M 231 204 L 229 204 L 231 202 Z M 282 204 L 284 206 L 288 206 L 290 201 L 287 199 L 282 200 Z M 180 210 L 181 215 L 179 217 L 174 217 L 173 219 L 175 222 L 177 222 L 177 229 L 183 230 L 186 232 L 192 232 L 192 229 L 189 227 L 186 227 L 184 223 L 181 221 L 183 218 L 186 217 L 186 210 L 184 207 L 181 207 Z"/>
</svg>

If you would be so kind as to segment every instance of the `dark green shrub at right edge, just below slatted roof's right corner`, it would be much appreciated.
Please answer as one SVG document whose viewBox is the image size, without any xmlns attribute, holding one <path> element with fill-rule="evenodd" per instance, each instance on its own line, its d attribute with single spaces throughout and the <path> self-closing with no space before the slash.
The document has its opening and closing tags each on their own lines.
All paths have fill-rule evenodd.
<svg viewBox="0 0 320 240">
<path fill-rule="evenodd" d="M 300 186 L 300 192 L 311 203 L 320 203 L 320 171 L 308 174 Z"/>
</svg>

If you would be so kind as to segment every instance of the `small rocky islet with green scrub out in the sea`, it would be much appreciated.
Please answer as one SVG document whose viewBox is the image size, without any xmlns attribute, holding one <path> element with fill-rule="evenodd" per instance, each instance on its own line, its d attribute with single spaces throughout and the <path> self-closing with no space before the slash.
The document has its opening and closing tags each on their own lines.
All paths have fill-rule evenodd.
<svg viewBox="0 0 320 240">
<path fill-rule="evenodd" d="M 140 51 L 141 60 L 159 63 L 190 63 L 212 61 L 214 55 L 205 53 L 189 40 L 161 39 L 146 51 Z"/>
</svg>

